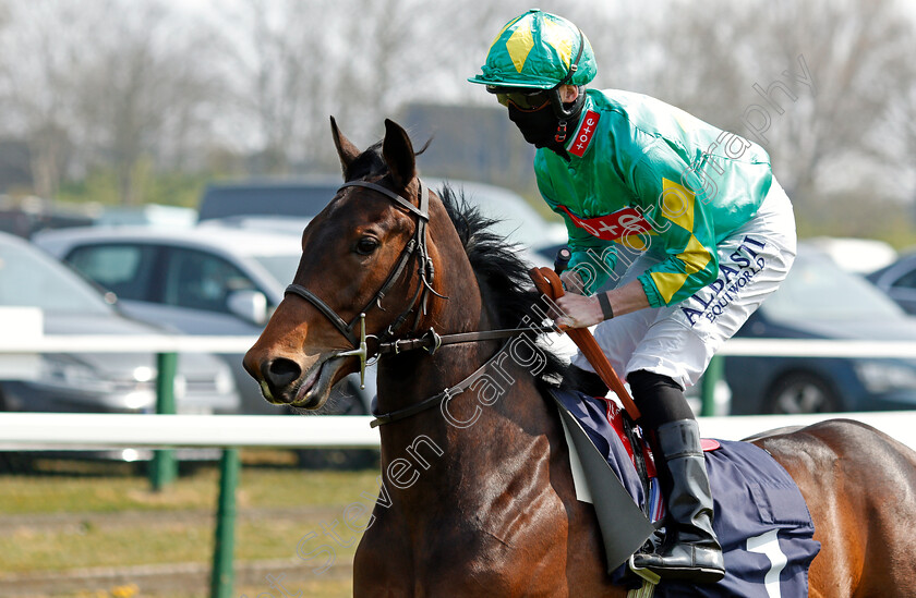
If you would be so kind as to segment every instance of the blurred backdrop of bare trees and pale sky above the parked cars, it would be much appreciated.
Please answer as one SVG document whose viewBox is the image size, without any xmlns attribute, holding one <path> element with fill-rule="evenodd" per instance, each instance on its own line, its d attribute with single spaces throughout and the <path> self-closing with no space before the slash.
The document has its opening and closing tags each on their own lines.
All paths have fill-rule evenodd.
<svg viewBox="0 0 916 598">
<path fill-rule="evenodd" d="M 530 148 L 475 74 L 516 0 L 5 0 L 0 194 L 71 207 L 196 207 L 214 179 L 337 172 L 328 117 L 365 146 L 383 118 L 435 137 L 425 174 L 530 199 Z M 912 2 L 554 1 L 595 87 L 640 91 L 748 135 L 803 234 L 914 242 Z M 799 83 L 799 57 L 813 88 Z M 795 99 L 755 90 L 782 81 Z M 748 113 L 751 121 L 766 118 Z M 754 137 L 751 137 L 754 138 Z M 760 139 L 756 139 L 760 141 Z"/>
</svg>

